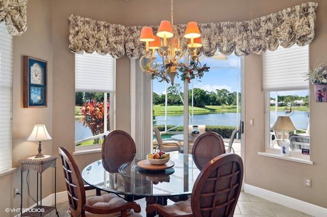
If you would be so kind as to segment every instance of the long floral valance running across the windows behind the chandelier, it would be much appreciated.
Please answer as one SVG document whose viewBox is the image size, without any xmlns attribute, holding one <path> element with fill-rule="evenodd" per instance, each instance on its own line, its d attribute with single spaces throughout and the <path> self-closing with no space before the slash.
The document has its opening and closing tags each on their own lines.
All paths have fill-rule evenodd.
<svg viewBox="0 0 327 217">
<path fill-rule="evenodd" d="M 241 22 L 200 23 L 202 52 L 212 57 L 217 49 L 223 55 L 247 56 L 277 49 L 309 44 L 314 36 L 317 3 L 302 3 L 277 13 Z M 124 26 L 71 15 L 69 47 L 74 53 L 97 51 L 114 58 L 137 59 L 143 55 L 145 43 L 138 40 L 143 26 Z M 177 24 L 184 32 L 186 25 Z M 158 26 L 152 26 L 155 33 Z"/>
</svg>

